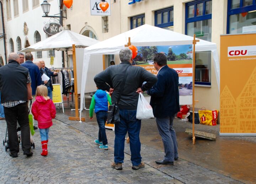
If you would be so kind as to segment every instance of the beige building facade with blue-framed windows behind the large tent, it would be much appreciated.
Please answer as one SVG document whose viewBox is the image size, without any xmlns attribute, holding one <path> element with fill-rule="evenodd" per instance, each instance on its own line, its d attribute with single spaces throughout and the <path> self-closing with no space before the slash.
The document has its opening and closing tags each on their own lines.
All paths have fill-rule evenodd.
<svg viewBox="0 0 256 184">
<path fill-rule="evenodd" d="M 97 5 L 100 1 L 73 1 L 73 6 L 66 9 L 68 18 L 63 20 L 64 28 L 102 41 L 149 24 L 189 36 L 196 34 L 199 39 L 214 42 L 219 56 L 220 35 L 256 32 L 255 0 L 111 0 L 111 16 L 92 16 L 90 3 L 95 2 Z M 113 56 L 108 58 L 118 60 Z M 196 107 L 219 110 L 219 91 L 210 52 L 196 53 L 194 77 L 195 99 L 199 100 Z"/>
</svg>

